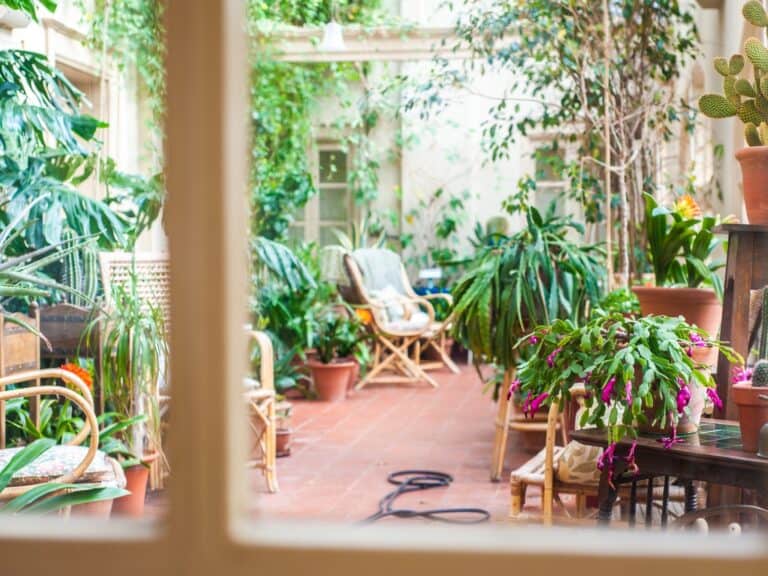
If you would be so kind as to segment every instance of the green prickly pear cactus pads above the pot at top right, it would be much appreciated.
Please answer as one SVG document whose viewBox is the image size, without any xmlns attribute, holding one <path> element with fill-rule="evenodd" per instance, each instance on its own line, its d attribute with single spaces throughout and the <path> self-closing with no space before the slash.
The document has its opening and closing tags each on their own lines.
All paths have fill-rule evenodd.
<svg viewBox="0 0 768 576">
<path fill-rule="evenodd" d="M 762 2 L 749 0 L 742 8 L 744 19 L 768 28 L 768 13 Z M 699 110 L 710 118 L 738 116 L 744 123 L 744 138 L 749 146 L 768 145 L 768 48 L 757 38 L 744 43 L 744 55 L 730 59 L 715 58 L 715 70 L 723 77 L 723 94 L 705 94 L 699 98 Z M 754 79 L 739 78 L 745 62 L 752 64 Z"/>
</svg>

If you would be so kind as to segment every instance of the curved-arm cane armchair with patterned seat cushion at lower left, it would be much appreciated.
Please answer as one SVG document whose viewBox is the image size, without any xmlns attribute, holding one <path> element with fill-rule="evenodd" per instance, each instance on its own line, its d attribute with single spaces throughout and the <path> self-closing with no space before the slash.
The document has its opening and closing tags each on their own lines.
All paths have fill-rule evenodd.
<svg viewBox="0 0 768 576">
<path fill-rule="evenodd" d="M 70 387 L 32 386 L 5 390 L 7 386 L 19 386 L 22 383 L 41 379 L 63 380 Z M 0 492 L 0 500 L 13 499 L 35 486 L 48 482 L 74 483 L 88 482 L 104 486 L 125 487 L 125 475 L 118 462 L 99 452 L 99 428 L 93 409 L 93 398 L 83 381 L 71 372 L 58 369 L 22 372 L 0 378 L 0 400 L 14 398 L 33 398 L 39 396 L 60 396 L 70 400 L 85 415 L 85 425 L 67 445 L 57 445 L 43 456 L 17 472 L 8 487 Z M 88 446 L 81 446 L 90 438 Z M 20 448 L 0 450 L 0 468 L 10 461 Z"/>
</svg>

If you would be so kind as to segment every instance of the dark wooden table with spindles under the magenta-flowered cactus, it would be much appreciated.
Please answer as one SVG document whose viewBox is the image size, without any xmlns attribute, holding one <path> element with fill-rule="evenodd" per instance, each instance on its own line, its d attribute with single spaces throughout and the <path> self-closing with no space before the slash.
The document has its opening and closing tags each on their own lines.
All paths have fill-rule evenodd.
<svg viewBox="0 0 768 576">
<path fill-rule="evenodd" d="M 608 440 L 605 430 L 576 430 L 571 438 L 582 444 L 606 447 Z M 637 439 L 635 462 L 639 474 L 627 470 L 625 456 L 632 444 L 625 439 L 616 448 L 613 477 L 604 470 L 600 477 L 599 514 L 600 523 L 608 523 L 613 506 L 616 503 L 619 486 L 632 484 L 630 523 L 634 523 L 634 499 L 637 483 L 640 480 L 664 477 L 664 494 L 669 494 L 669 478 L 678 478 L 685 486 L 685 511 L 696 510 L 698 502 L 693 481 L 700 480 L 713 484 L 725 484 L 747 490 L 754 490 L 759 495 L 768 494 L 768 458 L 744 452 L 741 449 L 739 424 L 726 420 L 703 420 L 699 432 L 682 437 L 683 441 L 664 448 L 659 438 L 640 437 Z M 652 498 L 652 488 L 648 489 L 648 502 Z M 666 506 L 662 512 L 662 523 L 666 523 Z"/>
</svg>

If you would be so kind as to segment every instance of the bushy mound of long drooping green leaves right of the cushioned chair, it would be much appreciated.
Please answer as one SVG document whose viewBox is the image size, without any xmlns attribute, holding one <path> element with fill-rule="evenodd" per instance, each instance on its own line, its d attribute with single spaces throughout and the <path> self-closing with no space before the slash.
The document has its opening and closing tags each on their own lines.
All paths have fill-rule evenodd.
<svg viewBox="0 0 768 576">
<path fill-rule="evenodd" d="M 530 208 L 520 232 L 480 239 L 453 290 L 454 335 L 478 361 L 509 368 L 517 361 L 517 337 L 557 318 L 580 323 L 597 304 L 602 254 L 569 239 L 575 233 L 583 229 L 573 220 Z"/>
</svg>

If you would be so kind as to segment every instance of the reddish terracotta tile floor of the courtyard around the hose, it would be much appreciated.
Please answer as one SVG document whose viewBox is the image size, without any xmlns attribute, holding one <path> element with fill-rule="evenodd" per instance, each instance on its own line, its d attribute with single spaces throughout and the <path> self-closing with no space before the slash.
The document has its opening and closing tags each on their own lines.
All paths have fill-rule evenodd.
<svg viewBox="0 0 768 576">
<path fill-rule="evenodd" d="M 398 507 L 480 507 L 504 521 L 508 484 L 489 480 L 495 404 L 471 367 L 433 374 L 437 390 L 378 385 L 340 403 L 294 401 L 292 454 L 278 459 L 280 492 L 266 493 L 263 477 L 253 472 L 254 511 L 358 521 L 392 489 L 387 474 L 416 468 L 447 472 L 454 482 L 404 495 Z M 507 469 L 529 458 L 519 438 L 510 440 Z M 534 491 L 528 501 L 535 507 L 537 500 Z"/>
</svg>

